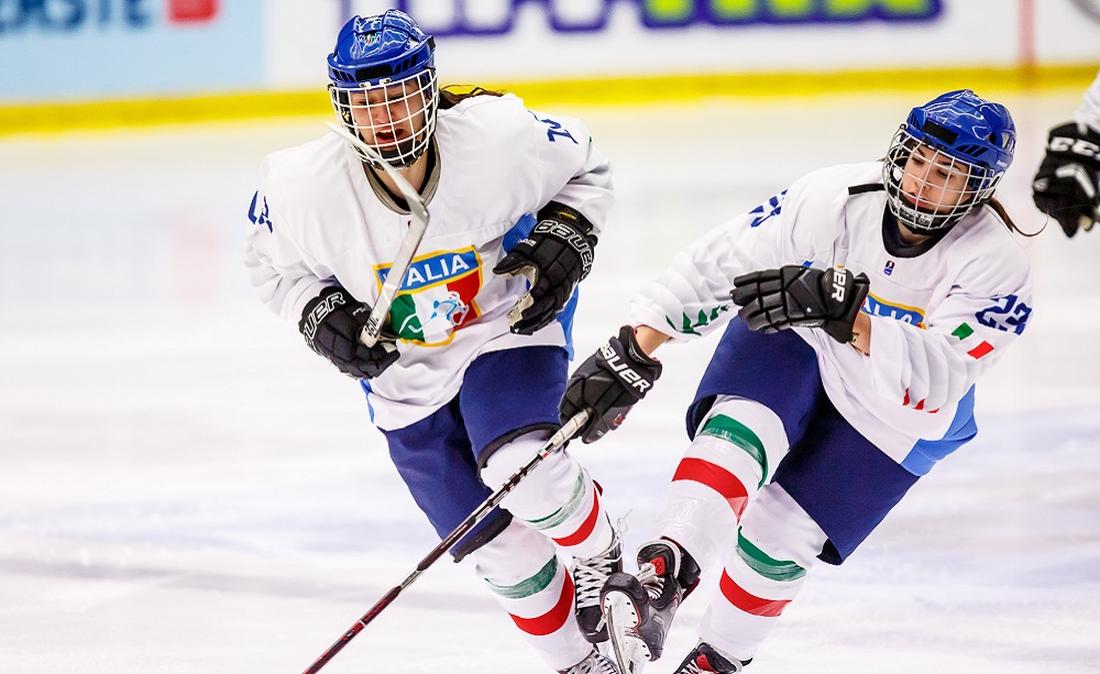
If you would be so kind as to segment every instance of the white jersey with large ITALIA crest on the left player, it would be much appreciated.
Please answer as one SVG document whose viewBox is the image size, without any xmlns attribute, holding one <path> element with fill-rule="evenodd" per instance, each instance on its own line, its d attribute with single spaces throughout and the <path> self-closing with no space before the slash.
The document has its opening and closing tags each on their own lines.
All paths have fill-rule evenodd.
<svg viewBox="0 0 1100 674">
<path fill-rule="evenodd" d="M 507 312 L 527 280 L 492 269 L 548 201 L 579 210 L 598 234 L 613 199 L 610 165 L 587 129 L 531 112 L 514 96 L 440 110 L 433 142 L 439 161 L 422 190 L 430 224 L 391 311 L 400 357 L 364 385 L 385 430 L 450 401 L 482 353 L 569 346 L 568 320 L 512 334 Z M 250 220 L 252 284 L 295 322 L 326 286 L 373 306 L 410 221 L 334 133 L 264 159 Z"/>
</svg>

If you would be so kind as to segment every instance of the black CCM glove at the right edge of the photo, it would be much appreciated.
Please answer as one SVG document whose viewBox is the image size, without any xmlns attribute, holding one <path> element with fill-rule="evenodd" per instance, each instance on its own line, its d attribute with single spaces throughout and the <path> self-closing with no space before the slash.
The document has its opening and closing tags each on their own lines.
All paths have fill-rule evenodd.
<svg viewBox="0 0 1100 674">
<path fill-rule="evenodd" d="M 1076 123 L 1052 129 L 1032 190 L 1035 206 L 1066 236 L 1091 230 L 1100 218 L 1100 133 Z"/>
</svg>

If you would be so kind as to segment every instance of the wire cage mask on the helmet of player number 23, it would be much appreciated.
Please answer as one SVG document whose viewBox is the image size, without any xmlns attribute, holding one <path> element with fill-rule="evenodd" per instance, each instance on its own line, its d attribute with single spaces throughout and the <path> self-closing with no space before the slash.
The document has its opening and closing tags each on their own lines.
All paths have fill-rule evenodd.
<svg viewBox="0 0 1100 674">
<path fill-rule="evenodd" d="M 919 156 L 911 162 L 914 154 Z M 903 188 L 906 168 L 912 194 Z M 902 124 L 882 174 L 890 212 L 919 234 L 938 234 L 989 201 L 1004 172 L 959 159 Z"/>
</svg>

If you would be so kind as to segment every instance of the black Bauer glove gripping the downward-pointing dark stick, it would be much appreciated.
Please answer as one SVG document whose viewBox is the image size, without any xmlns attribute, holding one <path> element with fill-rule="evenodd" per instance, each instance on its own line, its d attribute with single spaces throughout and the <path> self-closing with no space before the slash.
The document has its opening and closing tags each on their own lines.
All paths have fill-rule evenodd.
<svg viewBox="0 0 1100 674">
<path fill-rule="evenodd" d="M 607 340 L 596 353 L 581 363 L 565 385 L 565 396 L 558 411 L 565 423 L 582 409 L 591 417 L 581 428 L 585 444 L 614 431 L 634 405 L 646 397 L 661 376 L 661 363 L 638 346 L 634 328 L 623 325 L 618 336 Z"/>
</svg>

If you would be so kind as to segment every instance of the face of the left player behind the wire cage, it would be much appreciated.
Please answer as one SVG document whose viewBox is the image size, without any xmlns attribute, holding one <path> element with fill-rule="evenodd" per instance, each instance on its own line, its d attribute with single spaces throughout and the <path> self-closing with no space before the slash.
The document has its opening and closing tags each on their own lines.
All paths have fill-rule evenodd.
<svg viewBox="0 0 1100 674">
<path fill-rule="evenodd" d="M 417 78 L 350 95 L 351 113 L 363 140 L 387 159 L 409 153 L 425 128 L 427 92 Z"/>
</svg>

